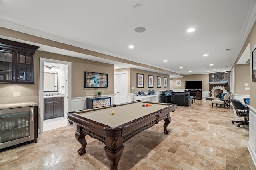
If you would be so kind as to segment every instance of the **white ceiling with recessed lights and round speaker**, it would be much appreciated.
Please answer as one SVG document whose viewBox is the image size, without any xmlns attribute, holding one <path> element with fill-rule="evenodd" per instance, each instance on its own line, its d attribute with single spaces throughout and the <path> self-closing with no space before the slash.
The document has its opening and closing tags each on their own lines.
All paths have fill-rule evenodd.
<svg viewBox="0 0 256 170">
<path fill-rule="evenodd" d="M 116 60 L 26 42 L 40 46 L 38 50 L 172 77 L 231 70 L 255 20 L 255 0 L 0 0 L 1 27 Z M 146 31 L 138 33 L 137 27 Z M 195 31 L 186 32 L 189 28 Z M 240 64 L 248 61 L 248 54 Z"/>
</svg>

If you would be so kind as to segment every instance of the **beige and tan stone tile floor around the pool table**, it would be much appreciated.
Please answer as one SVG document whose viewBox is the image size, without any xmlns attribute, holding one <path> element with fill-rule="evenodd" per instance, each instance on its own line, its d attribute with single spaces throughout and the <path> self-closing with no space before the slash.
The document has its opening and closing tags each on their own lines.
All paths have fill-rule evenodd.
<svg viewBox="0 0 256 170">
<path fill-rule="evenodd" d="M 256 170 L 247 149 L 248 126 L 232 109 L 212 107 L 209 100 L 178 106 L 171 113 L 170 133 L 164 121 L 126 143 L 119 170 Z M 104 144 L 86 136 L 86 154 L 79 156 L 76 125 L 39 134 L 32 143 L 0 153 L 0 169 L 15 170 L 109 170 Z"/>
</svg>

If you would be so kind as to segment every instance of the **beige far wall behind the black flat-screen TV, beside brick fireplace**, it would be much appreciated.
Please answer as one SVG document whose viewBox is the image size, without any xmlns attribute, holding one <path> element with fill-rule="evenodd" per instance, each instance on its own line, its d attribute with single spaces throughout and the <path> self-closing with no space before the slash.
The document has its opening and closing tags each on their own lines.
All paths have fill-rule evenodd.
<svg viewBox="0 0 256 170">
<path fill-rule="evenodd" d="M 209 74 L 184 75 L 182 78 L 172 78 L 173 90 L 184 90 L 186 81 L 202 81 L 202 90 L 209 90 Z M 181 80 L 181 86 L 176 86 L 176 80 Z"/>
</svg>

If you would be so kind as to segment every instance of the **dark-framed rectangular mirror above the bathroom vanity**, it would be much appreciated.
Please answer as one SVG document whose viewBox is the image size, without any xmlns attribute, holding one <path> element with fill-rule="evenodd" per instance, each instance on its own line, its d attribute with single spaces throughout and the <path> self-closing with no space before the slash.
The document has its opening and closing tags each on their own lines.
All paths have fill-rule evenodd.
<svg viewBox="0 0 256 170">
<path fill-rule="evenodd" d="M 58 72 L 44 72 L 44 92 L 58 92 Z"/>
</svg>

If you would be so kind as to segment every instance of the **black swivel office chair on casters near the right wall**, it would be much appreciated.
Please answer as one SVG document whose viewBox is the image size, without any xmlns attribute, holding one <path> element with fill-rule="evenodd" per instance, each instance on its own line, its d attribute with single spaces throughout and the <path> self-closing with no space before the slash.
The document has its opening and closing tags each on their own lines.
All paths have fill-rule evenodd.
<svg viewBox="0 0 256 170">
<path fill-rule="evenodd" d="M 240 127 L 240 125 L 249 125 L 249 107 L 245 106 L 237 99 L 231 99 L 231 103 L 236 110 L 236 115 L 239 117 L 244 117 L 243 121 L 232 120 L 232 124 L 234 124 L 234 122 L 238 123 L 237 127 Z"/>
</svg>

